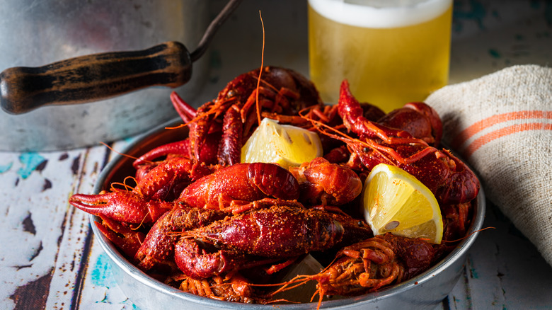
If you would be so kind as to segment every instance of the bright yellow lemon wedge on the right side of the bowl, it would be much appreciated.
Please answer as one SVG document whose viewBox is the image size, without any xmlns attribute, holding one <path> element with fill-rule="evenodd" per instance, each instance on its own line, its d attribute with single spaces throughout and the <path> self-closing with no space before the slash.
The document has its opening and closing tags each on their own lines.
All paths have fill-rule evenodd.
<svg viewBox="0 0 552 310">
<path fill-rule="evenodd" d="M 396 166 L 380 163 L 369 173 L 362 189 L 364 218 L 374 235 L 398 236 L 441 243 L 441 209 L 431 191 Z"/>
</svg>

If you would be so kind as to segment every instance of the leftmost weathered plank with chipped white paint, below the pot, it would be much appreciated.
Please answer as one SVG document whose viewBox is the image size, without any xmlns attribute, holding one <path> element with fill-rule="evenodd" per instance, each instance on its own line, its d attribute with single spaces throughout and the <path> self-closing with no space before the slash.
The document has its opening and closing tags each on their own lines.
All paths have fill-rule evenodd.
<svg viewBox="0 0 552 310">
<path fill-rule="evenodd" d="M 11 244 L 3 255 L 1 289 L 14 309 L 26 309 L 28 302 L 46 305 L 52 282 L 57 283 L 52 279 L 67 269 L 66 261 L 57 259 L 65 229 L 72 227 L 67 223 L 67 189 L 76 180 L 72 159 L 79 154 L 81 151 L 0 155 L 4 167 L 0 224 L 7 228 L 0 239 L 2 244 Z M 26 296 L 28 292 L 31 298 Z"/>
</svg>

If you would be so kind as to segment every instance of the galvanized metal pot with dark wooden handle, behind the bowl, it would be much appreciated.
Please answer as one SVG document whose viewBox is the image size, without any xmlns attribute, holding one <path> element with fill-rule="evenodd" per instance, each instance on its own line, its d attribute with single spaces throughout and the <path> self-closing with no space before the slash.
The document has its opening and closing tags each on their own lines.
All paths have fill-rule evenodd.
<svg viewBox="0 0 552 310">
<path fill-rule="evenodd" d="M 13 14 L 17 18 L 21 18 L 23 13 L 29 14 L 29 21 L 26 23 L 23 21 L 23 25 L 30 27 L 34 25 L 30 21 L 42 21 L 42 23 L 37 23 L 37 27 L 52 28 L 52 25 L 45 23 L 46 20 L 65 21 L 66 19 L 71 19 L 71 16 L 91 10 L 91 8 L 85 7 L 81 3 L 84 1 L 75 1 L 74 5 L 67 6 L 70 8 L 70 11 L 63 12 L 67 13 L 66 16 L 56 18 L 43 12 L 47 10 L 47 4 L 42 6 L 28 4 L 27 2 L 22 1 L 21 3 L 18 2 L 17 5 L 13 4 L 13 11 L 21 12 L 19 14 L 4 12 L 4 8 L 0 10 L 0 13 L 4 12 L 4 15 Z M 164 22 L 163 18 L 183 18 L 185 17 L 183 16 L 184 10 L 188 12 L 190 18 L 195 18 L 194 14 L 196 16 L 203 15 L 203 12 L 196 13 L 194 11 L 191 3 L 194 1 L 183 1 L 182 6 L 184 2 L 188 2 L 190 7 L 176 9 L 173 6 L 179 4 L 178 1 L 162 1 L 156 2 L 154 5 L 156 9 L 153 10 L 150 7 L 142 8 L 142 6 L 151 6 L 151 4 L 134 3 L 130 5 L 125 3 L 125 8 L 121 8 L 122 11 L 119 12 L 111 7 L 112 1 L 108 1 L 108 3 L 102 5 L 106 9 L 115 10 L 119 15 L 104 16 L 106 12 L 103 12 L 104 15 L 101 15 L 102 12 L 93 12 L 96 13 L 96 16 L 94 16 L 96 19 L 91 21 L 88 27 L 84 23 L 75 22 L 76 24 L 71 25 L 56 25 L 58 29 L 54 29 L 54 31 L 61 33 L 62 29 L 59 28 L 75 27 L 76 29 L 73 32 L 76 38 L 71 38 L 71 41 L 79 41 L 84 46 L 93 45 L 94 38 L 88 38 L 91 31 L 87 31 L 87 28 L 100 27 L 102 23 L 101 18 L 108 20 L 108 29 L 103 33 L 98 31 L 101 35 L 104 35 L 104 33 L 124 31 L 117 28 L 120 26 L 119 23 L 115 23 L 115 21 L 118 21 L 117 18 L 127 18 L 134 21 L 142 18 L 142 15 L 145 13 L 149 13 L 147 10 L 161 11 L 152 17 L 156 19 L 153 21 L 155 25 L 151 25 L 151 21 L 134 21 L 132 25 L 143 23 L 146 24 L 145 28 L 141 28 L 141 32 L 139 31 L 138 33 L 124 33 L 121 35 L 123 38 L 138 37 L 132 41 L 133 43 L 135 41 L 149 42 L 147 28 L 156 28 L 158 23 L 160 25 L 166 24 L 166 27 L 159 27 L 161 28 L 159 32 L 163 32 L 168 31 L 167 28 L 175 25 Z M 156 103 L 158 103 L 156 100 L 151 100 L 154 102 L 144 100 L 159 98 L 159 92 L 149 97 L 124 97 L 118 101 L 106 100 L 109 98 L 120 99 L 122 95 L 149 88 L 150 86 L 177 88 L 188 83 L 192 76 L 192 63 L 196 62 L 204 54 L 218 28 L 231 15 L 240 2 L 241 0 L 230 0 L 226 4 L 219 15 L 209 24 L 193 52 L 188 52 L 188 49 L 181 42 L 167 41 L 145 50 L 88 54 L 64 59 L 41 67 L 10 67 L 4 69 L 0 74 L 0 106 L 7 114 L 0 115 L 0 129 L 4 132 L 3 137 L 0 138 L 0 150 L 38 151 L 81 147 L 101 141 L 109 142 L 136 134 L 139 130 L 143 130 L 144 123 L 151 128 L 153 125 L 159 125 L 161 121 L 168 120 L 166 118 L 167 113 L 159 116 L 159 113 L 156 113 L 156 110 L 160 110 L 160 108 L 163 111 L 169 111 L 169 113 L 174 112 L 172 106 L 166 100 L 168 98 L 166 93 L 162 95 L 167 103 L 166 108 L 156 106 Z M 113 4 L 113 6 L 118 6 L 118 4 Z M 201 8 L 201 6 L 205 6 L 205 4 L 198 4 L 197 8 Z M 100 10 L 100 7 L 95 6 L 96 10 Z M 138 15 L 134 16 L 130 13 L 125 14 L 125 11 L 138 11 L 139 13 L 133 13 L 134 15 Z M 74 19 L 79 21 L 82 17 Z M 112 22 L 113 25 L 111 24 Z M 122 22 L 120 24 L 122 25 Z M 197 31 L 193 26 L 188 28 L 192 28 L 189 31 Z M 31 33 L 39 30 L 34 29 Z M 46 29 L 42 30 L 42 33 L 47 33 Z M 177 31 L 177 33 L 184 33 L 184 29 Z M 13 33 L 9 33 L 9 35 L 13 37 Z M 61 34 L 61 36 L 62 38 L 59 42 L 49 42 L 50 45 L 63 45 L 60 48 L 66 50 L 78 50 L 77 47 L 81 46 L 74 42 L 67 44 L 67 41 L 69 41 L 68 35 Z M 33 39 L 41 39 L 34 37 L 36 35 L 33 38 L 19 38 L 19 40 L 33 42 Z M 103 40 L 115 40 L 113 38 L 108 39 L 108 35 L 105 35 L 105 37 Z M 164 38 L 163 34 L 160 37 Z M 67 41 L 64 42 L 64 39 Z M 7 46 L 9 47 L 10 45 Z M 10 54 L 15 54 L 16 56 L 21 54 L 21 57 L 23 57 L 27 50 L 30 50 L 30 47 L 24 49 L 16 49 L 14 47 L 13 51 L 8 51 Z M 40 52 L 47 53 L 47 50 L 38 50 L 39 54 Z M 57 51 L 57 53 L 60 52 Z M 9 57 L 4 57 L 4 59 L 6 58 Z M 33 56 L 33 58 L 35 57 Z M 137 100 L 137 98 L 142 98 L 142 100 Z M 47 105 L 64 105 L 67 107 L 67 105 L 91 102 L 100 102 L 101 107 L 98 107 L 97 110 L 90 109 L 89 105 L 86 110 L 68 109 L 65 107 L 59 110 L 45 109 L 41 111 L 42 113 L 33 113 L 33 117 L 28 116 L 28 113 L 33 110 Z M 141 109 L 134 106 L 137 102 L 151 106 Z M 116 110 L 110 107 L 114 103 L 127 103 L 131 106 L 126 110 L 124 108 Z M 13 115 L 21 117 L 13 117 Z M 171 115 L 171 118 L 175 116 L 174 114 Z M 151 118 L 152 116 L 154 117 L 153 119 Z M 139 118 L 146 120 L 144 122 L 138 120 L 134 124 L 134 119 Z M 98 124 L 102 126 L 98 126 Z M 4 139 L 6 141 L 3 141 Z"/>
</svg>

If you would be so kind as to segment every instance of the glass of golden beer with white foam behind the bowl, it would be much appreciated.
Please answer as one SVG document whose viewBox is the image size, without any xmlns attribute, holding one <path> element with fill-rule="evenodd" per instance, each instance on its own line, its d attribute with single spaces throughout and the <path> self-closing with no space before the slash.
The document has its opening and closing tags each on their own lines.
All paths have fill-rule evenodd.
<svg viewBox="0 0 552 310">
<path fill-rule="evenodd" d="M 310 77 L 326 103 L 343 79 L 386 113 L 449 79 L 452 0 L 309 0 Z"/>
</svg>

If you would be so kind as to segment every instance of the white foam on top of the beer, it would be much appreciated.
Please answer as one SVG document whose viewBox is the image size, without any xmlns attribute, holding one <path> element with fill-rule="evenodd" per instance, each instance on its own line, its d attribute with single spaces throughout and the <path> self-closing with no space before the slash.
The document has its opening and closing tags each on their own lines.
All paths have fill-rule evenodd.
<svg viewBox="0 0 552 310">
<path fill-rule="evenodd" d="M 309 5 L 321 16 L 338 23 L 363 28 L 397 28 L 430 21 L 452 6 L 452 0 L 417 0 L 401 4 L 401 0 L 309 0 Z M 372 6 L 364 5 L 372 3 Z"/>
</svg>

